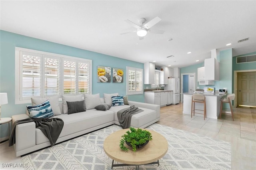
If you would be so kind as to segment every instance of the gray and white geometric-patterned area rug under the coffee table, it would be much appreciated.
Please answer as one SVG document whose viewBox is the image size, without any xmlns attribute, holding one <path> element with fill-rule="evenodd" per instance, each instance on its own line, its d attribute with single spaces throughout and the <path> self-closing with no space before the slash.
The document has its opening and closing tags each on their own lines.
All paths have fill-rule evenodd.
<svg viewBox="0 0 256 170">
<path fill-rule="evenodd" d="M 104 139 L 121 130 L 111 125 L 62 142 L 55 146 L 22 156 L 25 169 L 60 170 L 111 170 L 112 159 L 104 152 Z M 162 134 L 168 141 L 166 155 L 157 164 L 141 165 L 140 170 L 171 169 L 231 169 L 231 146 L 229 142 L 194 134 L 184 130 L 153 124 L 147 129 Z M 115 164 L 118 162 L 114 162 Z M 114 170 L 135 170 L 135 166 L 114 167 Z"/>
</svg>

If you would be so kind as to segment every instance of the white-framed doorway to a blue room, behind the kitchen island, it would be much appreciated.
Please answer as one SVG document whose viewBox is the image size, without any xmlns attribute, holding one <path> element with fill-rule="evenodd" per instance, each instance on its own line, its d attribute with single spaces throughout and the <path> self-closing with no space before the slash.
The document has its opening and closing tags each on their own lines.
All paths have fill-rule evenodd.
<svg viewBox="0 0 256 170">
<path fill-rule="evenodd" d="M 195 90 L 196 73 L 182 73 L 180 80 L 180 102 L 183 103 L 183 93 L 190 93 Z"/>
</svg>

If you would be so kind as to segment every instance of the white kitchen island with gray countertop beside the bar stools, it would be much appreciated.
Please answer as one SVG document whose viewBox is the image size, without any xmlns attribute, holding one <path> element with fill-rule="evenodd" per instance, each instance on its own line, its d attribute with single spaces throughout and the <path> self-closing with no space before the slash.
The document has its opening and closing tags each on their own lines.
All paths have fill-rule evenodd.
<svg viewBox="0 0 256 170">
<path fill-rule="evenodd" d="M 195 93 L 183 93 L 183 114 L 191 115 L 192 95 Z M 218 119 L 220 115 L 220 99 L 226 95 L 216 93 L 200 93 L 205 96 L 206 100 L 206 117 Z M 204 105 L 195 103 L 196 109 L 203 110 Z M 200 111 L 197 111 L 200 113 Z M 202 111 L 203 113 L 203 111 Z M 195 116 L 204 117 L 204 115 L 195 113 Z"/>
</svg>

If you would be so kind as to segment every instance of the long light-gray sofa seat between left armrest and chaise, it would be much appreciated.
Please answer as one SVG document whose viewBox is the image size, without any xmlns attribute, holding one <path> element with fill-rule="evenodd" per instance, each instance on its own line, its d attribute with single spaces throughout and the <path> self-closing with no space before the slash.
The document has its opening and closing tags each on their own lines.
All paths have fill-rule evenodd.
<svg viewBox="0 0 256 170">
<path fill-rule="evenodd" d="M 97 111 L 96 109 L 87 110 L 86 112 L 79 112 L 76 114 L 62 114 L 54 116 L 64 121 L 64 126 L 59 138 L 74 134 L 82 130 L 103 125 L 105 123 L 113 122 L 113 111 Z M 114 122 L 113 122 L 114 123 Z M 36 144 L 48 142 L 49 139 L 44 136 L 43 132 L 36 128 Z"/>
</svg>

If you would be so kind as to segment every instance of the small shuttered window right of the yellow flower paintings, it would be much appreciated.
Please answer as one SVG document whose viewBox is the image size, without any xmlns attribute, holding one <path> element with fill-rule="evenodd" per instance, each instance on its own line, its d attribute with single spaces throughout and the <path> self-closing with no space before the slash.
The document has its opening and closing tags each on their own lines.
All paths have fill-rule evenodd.
<svg viewBox="0 0 256 170">
<path fill-rule="evenodd" d="M 143 69 L 126 67 L 126 94 L 143 94 Z"/>
</svg>

